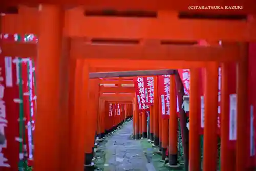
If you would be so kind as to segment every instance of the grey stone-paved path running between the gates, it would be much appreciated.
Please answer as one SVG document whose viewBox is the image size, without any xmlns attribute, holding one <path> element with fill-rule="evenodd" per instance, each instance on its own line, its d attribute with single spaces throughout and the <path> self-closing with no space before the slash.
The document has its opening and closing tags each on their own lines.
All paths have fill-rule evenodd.
<svg viewBox="0 0 256 171">
<path fill-rule="evenodd" d="M 148 163 L 140 141 L 131 139 L 132 133 L 133 121 L 131 120 L 111 136 L 106 137 L 105 142 L 100 143 L 96 153 L 95 163 L 98 167 L 96 170 L 155 171 L 153 165 Z M 99 160 L 102 160 L 101 166 L 98 164 Z"/>
</svg>

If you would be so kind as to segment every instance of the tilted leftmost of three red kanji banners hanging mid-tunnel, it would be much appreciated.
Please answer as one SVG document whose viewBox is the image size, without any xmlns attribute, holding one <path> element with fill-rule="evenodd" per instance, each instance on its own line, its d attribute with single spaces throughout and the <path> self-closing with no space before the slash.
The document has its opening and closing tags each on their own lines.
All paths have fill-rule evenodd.
<svg viewBox="0 0 256 171">
<path fill-rule="evenodd" d="M 135 77 L 134 85 L 135 85 L 135 94 L 136 94 L 136 99 L 137 99 L 137 103 L 138 103 L 138 109 L 140 111 L 148 110 L 149 106 L 146 105 L 144 78 L 143 77 Z"/>
</svg>

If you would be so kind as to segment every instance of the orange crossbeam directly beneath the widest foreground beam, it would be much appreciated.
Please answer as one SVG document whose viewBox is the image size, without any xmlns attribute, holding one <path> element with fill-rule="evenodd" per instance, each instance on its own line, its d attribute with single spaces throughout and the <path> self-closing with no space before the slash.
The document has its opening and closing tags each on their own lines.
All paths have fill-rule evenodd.
<svg viewBox="0 0 256 171">
<path fill-rule="evenodd" d="M 241 57 L 237 44 L 223 46 L 191 45 L 95 45 L 82 39 L 72 41 L 72 53 L 85 59 L 130 59 L 130 60 L 185 60 L 185 61 L 235 61 Z M 104 55 L 102 55 L 104 54 Z"/>
</svg>

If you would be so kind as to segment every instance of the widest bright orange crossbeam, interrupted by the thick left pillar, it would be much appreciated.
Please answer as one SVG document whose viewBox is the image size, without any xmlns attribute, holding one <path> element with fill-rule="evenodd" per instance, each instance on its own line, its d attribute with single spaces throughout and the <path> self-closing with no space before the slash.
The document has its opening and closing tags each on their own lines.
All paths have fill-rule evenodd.
<svg viewBox="0 0 256 171">
<path fill-rule="evenodd" d="M 243 3 L 239 2 L 238 4 Z M 184 7 L 188 8 L 188 5 L 186 4 Z M 254 5 L 250 6 L 250 8 L 252 7 L 256 8 Z M 247 22 L 179 19 L 177 17 L 177 12 L 169 10 L 158 11 L 157 18 L 138 19 L 129 17 L 86 17 L 84 16 L 85 8 L 86 7 L 77 7 L 66 11 L 66 36 L 106 39 L 160 39 L 176 41 L 198 41 L 206 39 L 209 41 L 222 40 L 228 42 L 248 42 L 256 40 L 255 19 L 251 19 Z M 23 7 L 23 9 L 24 10 L 19 12 L 19 15 L 6 15 L 3 17 L 3 32 L 20 34 L 39 33 L 38 10 L 36 8 L 29 7 Z M 206 12 L 214 10 L 202 11 Z M 226 13 L 228 10 L 219 11 L 225 11 L 224 13 Z M 242 11 L 243 10 L 233 10 L 233 12 L 236 13 Z"/>
</svg>

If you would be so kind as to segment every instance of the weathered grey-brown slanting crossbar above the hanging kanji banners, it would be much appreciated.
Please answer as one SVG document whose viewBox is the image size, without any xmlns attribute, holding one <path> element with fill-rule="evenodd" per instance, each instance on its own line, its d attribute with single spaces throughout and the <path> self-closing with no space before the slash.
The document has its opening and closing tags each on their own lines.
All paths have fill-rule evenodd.
<svg viewBox="0 0 256 171">
<path fill-rule="evenodd" d="M 147 70 L 147 71 L 128 71 L 128 72 L 101 72 L 90 73 L 90 78 L 108 78 L 108 77 L 127 77 L 127 76 L 152 76 L 152 75 L 164 75 L 174 74 L 174 70 Z"/>
</svg>

